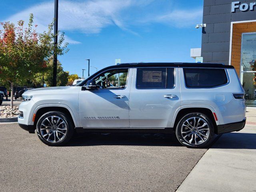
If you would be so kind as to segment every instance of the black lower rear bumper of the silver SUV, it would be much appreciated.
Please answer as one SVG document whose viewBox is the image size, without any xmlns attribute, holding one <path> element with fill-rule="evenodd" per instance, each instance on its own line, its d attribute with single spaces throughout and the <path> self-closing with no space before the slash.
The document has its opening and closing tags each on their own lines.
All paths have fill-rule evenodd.
<svg viewBox="0 0 256 192">
<path fill-rule="evenodd" d="M 233 132 L 233 131 L 240 131 L 241 129 L 244 128 L 245 122 L 246 122 L 246 118 L 244 118 L 244 120 L 242 120 L 240 122 L 218 125 L 217 130 L 216 130 L 216 134 L 228 133 L 228 132 Z"/>
</svg>

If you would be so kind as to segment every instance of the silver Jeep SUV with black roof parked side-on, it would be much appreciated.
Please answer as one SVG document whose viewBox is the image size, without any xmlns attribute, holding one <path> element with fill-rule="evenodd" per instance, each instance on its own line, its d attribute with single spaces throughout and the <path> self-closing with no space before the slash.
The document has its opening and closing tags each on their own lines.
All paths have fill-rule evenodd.
<svg viewBox="0 0 256 192">
<path fill-rule="evenodd" d="M 76 86 L 28 90 L 18 122 L 50 146 L 80 132 L 176 133 L 193 148 L 244 128 L 244 89 L 233 66 L 132 63 L 104 68 Z"/>
</svg>

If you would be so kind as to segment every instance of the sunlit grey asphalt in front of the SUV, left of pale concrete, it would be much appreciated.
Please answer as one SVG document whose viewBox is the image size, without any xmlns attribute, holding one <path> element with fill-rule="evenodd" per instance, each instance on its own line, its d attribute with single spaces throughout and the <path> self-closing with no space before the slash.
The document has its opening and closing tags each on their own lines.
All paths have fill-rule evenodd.
<svg viewBox="0 0 256 192">
<path fill-rule="evenodd" d="M 175 191 L 206 149 L 172 135 L 84 134 L 50 147 L 0 124 L 0 191 Z"/>
</svg>

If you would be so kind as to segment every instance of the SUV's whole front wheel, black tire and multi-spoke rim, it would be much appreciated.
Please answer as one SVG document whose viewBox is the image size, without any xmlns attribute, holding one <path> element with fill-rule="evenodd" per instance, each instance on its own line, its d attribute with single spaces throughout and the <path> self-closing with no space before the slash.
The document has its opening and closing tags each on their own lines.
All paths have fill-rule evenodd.
<svg viewBox="0 0 256 192">
<path fill-rule="evenodd" d="M 36 132 L 42 142 L 49 146 L 63 146 L 74 134 L 72 120 L 59 111 L 43 114 L 37 124 Z"/>
</svg>

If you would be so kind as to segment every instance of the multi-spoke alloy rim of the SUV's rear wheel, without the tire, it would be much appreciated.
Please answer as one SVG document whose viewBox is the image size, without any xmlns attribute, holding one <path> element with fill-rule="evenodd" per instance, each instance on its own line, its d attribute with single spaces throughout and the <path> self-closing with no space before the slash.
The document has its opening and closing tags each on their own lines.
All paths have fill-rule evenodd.
<svg viewBox="0 0 256 192">
<path fill-rule="evenodd" d="M 186 142 L 192 145 L 204 143 L 210 136 L 207 122 L 200 117 L 192 117 L 182 124 L 181 134 Z"/>
</svg>

